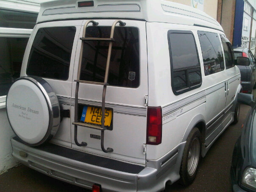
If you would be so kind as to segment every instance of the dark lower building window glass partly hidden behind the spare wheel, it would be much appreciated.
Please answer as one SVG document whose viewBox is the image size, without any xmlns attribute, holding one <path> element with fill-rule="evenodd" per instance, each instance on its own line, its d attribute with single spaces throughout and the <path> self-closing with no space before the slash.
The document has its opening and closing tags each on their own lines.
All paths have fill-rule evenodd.
<svg viewBox="0 0 256 192">
<path fill-rule="evenodd" d="M 28 38 L 0 38 L 0 96 L 6 95 L 11 84 L 20 75 Z"/>
</svg>

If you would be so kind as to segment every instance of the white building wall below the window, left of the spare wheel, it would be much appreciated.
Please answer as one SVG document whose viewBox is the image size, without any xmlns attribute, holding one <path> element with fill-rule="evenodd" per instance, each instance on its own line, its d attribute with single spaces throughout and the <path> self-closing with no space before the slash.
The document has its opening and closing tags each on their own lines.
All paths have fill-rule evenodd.
<svg viewBox="0 0 256 192">
<path fill-rule="evenodd" d="M 7 119 L 6 108 L 0 109 L 0 174 L 18 164 L 11 155 L 11 138 L 14 136 Z"/>
</svg>

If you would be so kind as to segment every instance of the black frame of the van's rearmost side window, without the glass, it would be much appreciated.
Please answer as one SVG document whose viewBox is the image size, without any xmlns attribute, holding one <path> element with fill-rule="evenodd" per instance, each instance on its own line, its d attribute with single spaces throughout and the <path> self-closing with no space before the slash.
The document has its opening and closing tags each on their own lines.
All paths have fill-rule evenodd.
<svg viewBox="0 0 256 192">
<path fill-rule="evenodd" d="M 196 53 L 197 53 L 197 57 L 198 57 L 198 66 L 192 66 L 192 67 L 183 67 L 183 68 L 179 68 L 179 69 L 173 69 L 173 58 L 172 58 L 172 50 L 171 50 L 171 43 L 170 43 L 170 34 L 171 33 L 180 33 L 180 34 L 192 34 L 193 38 L 194 38 L 194 42 L 195 42 L 195 49 L 196 49 Z M 201 70 L 201 63 L 200 63 L 200 58 L 199 58 L 199 53 L 198 53 L 198 45 L 195 41 L 195 35 L 192 31 L 186 31 L 186 30 L 169 30 L 167 32 L 167 39 L 168 39 L 168 45 L 169 45 L 169 54 L 170 54 L 170 67 L 171 67 L 171 86 L 172 86 L 172 90 L 174 95 L 181 95 L 185 92 L 191 91 L 193 89 L 196 89 L 198 87 L 200 87 L 202 85 L 202 70 Z M 189 85 L 189 70 L 190 69 L 195 69 L 195 68 L 199 68 L 200 70 L 200 83 L 194 86 L 190 86 Z M 179 91 L 176 91 L 174 89 L 174 73 L 175 72 L 179 72 L 179 71 L 185 71 L 186 74 L 186 83 L 187 83 L 187 88 L 185 89 L 181 89 Z"/>
</svg>

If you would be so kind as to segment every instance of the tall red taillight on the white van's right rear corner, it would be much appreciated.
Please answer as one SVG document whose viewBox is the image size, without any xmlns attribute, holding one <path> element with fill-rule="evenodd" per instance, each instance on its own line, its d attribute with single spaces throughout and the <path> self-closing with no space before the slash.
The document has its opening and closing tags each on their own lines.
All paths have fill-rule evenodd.
<svg viewBox="0 0 256 192">
<path fill-rule="evenodd" d="M 162 142 L 162 108 L 147 107 L 147 144 L 159 145 Z"/>
</svg>

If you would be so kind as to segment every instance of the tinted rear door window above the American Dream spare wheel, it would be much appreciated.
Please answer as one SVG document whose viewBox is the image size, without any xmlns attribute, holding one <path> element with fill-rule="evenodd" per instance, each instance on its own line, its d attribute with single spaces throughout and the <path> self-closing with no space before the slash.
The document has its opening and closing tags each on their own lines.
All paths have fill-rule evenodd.
<svg viewBox="0 0 256 192">
<path fill-rule="evenodd" d="M 68 79 L 75 27 L 40 28 L 31 47 L 28 75 Z"/>
</svg>

